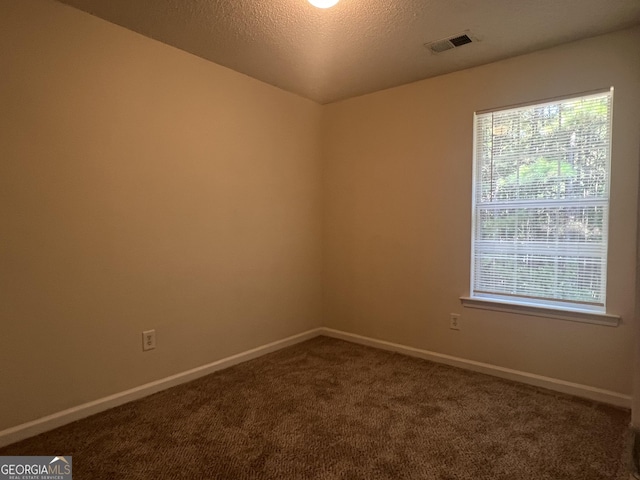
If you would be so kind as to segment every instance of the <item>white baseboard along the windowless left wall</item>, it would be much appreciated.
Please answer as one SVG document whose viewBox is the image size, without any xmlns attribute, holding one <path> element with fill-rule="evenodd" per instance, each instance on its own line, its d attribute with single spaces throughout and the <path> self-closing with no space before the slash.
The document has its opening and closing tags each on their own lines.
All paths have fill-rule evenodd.
<svg viewBox="0 0 640 480">
<path fill-rule="evenodd" d="M 278 340 L 267 345 L 262 345 L 254 349 L 247 350 L 246 352 L 242 352 L 237 355 L 223 358 L 207 365 L 202 365 L 201 367 L 187 370 L 186 372 L 171 375 L 170 377 L 166 378 L 161 378 L 160 380 L 146 383 L 144 385 L 140 385 L 139 387 L 125 390 L 124 392 L 109 395 L 108 397 L 84 403 L 82 405 L 78 405 L 76 407 L 72 407 L 67 410 L 54 413 L 52 415 L 47 415 L 46 417 L 38 418 L 37 420 L 33 420 L 31 422 L 7 428 L 6 430 L 0 431 L 0 447 L 4 447 L 20 440 L 24 440 L 25 438 L 33 437 L 40 433 L 53 430 L 54 428 L 61 427 L 68 423 L 75 422 L 76 420 L 80 420 L 90 415 L 103 412 L 124 403 L 138 400 L 139 398 L 146 397 L 161 390 L 165 390 L 167 388 L 174 387 L 191 380 L 195 380 L 196 378 L 209 375 L 210 373 L 231 367 L 238 363 L 246 362 L 248 360 L 261 357 L 262 355 L 266 355 L 267 353 L 275 352 L 276 350 L 280 350 L 296 343 L 304 342 L 305 340 L 309 340 L 311 338 L 317 337 L 318 335 L 321 335 L 321 330 L 322 329 L 320 328 L 309 330 L 307 332 L 293 335 L 283 340 Z"/>
</svg>

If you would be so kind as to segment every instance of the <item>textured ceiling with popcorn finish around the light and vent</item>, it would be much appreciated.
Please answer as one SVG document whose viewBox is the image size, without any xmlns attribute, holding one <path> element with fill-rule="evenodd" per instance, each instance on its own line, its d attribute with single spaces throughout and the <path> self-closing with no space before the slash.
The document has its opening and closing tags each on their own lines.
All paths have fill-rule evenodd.
<svg viewBox="0 0 640 480">
<path fill-rule="evenodd" d="M 60 1 L 320 103 L 640 24 L 639 0 Z"/>
</svg>

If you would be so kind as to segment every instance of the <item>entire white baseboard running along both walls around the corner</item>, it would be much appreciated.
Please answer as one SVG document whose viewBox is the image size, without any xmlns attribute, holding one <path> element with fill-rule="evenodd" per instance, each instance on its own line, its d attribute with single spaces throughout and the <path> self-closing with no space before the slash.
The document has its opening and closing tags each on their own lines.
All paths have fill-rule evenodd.
<svg viewBox="0 0 640 480">
<path fill-rule="evenodd" d="M 509 368 L 490 365 L 487 363 L 466 360 L 464 358 L 453 357 L 451 355 L 430 352 L 428 350 L 421 350 L 419 348 L 407 347 L 405 345 L 400 345 L 397 343 L 386 342 L 384 340 L 376 340 L 374 338 L 363 337 L 361 335 L 356 335 L 353 333 L 347 333 L 340 330 L 322 327 L 315 328 L 298 335 L 293 335 L 291 337 L 278 340 L 267 345 L 262 345 L 246 352 L 232 355 L 216 362 L 187 370 L 186 372 L 178 373 L 176 375 L 171 375 L 170 377 L 146 383 L 144 385 L 140 385 L 139 387 L 125 390 L 124 392 L 109 395 L 108 397 L 84 403 L 82 405 L 78 405 L 76 407 L 72 407 L 67 410 L 54 413 L 52 415 L 47 415 L 46 417 L 42 417 L 31 422 L 23 423 L 6 430 L 2 430 L 0 431 L 0 447 L 18 442 L 20 440 L 24 440 L 25 438 L 33 437 L 49 430 L 53 430 L 54 428 L 61 427 L 68 423 L 75 422 L 76 420 L 80 420 L 90 415 L 103 412 L 124 403 L 138 400 L 161 390 L 165 390 L 167 388 L 174 387 L 191 380 L 195 380 L 196 378 L 209 375 L 210 373 L 231 367 L 233 365 L 237 365 L 238 363 L 246 362 L 248 360 L 261 357 L 262 355 L 266 355 L 267 353 L 275 352 L 282 348 L 295 345 L 306 340 L 310 340 L 311 338 L 317 337 L 319 335 L 338 338 L 361 345 L 368 345 L 370 347 L 380 348 L 382 350 L 398 352 L 405 355 L 410 355 L 412 357 L 431 360 L 437 363 L 444 363 L 446 365 L 452 365 L 454 367 L 506 378 L 509 380 L 514 380 L 517 382 L 526 383 L 557 392 L 575 395 L 577 397 L 587 398 L 589 400 L 608 403 L 610 405 L 615 405 L 618 407 L 631 408 L 631 397 L 629 395 L 590 387 L 587 385 L 566 382 L 564 380 L 544 377 L 541 375 L 535 375 L 532 373 L 521 372 L 518 370 L 512 370 Z"/>
</svg>

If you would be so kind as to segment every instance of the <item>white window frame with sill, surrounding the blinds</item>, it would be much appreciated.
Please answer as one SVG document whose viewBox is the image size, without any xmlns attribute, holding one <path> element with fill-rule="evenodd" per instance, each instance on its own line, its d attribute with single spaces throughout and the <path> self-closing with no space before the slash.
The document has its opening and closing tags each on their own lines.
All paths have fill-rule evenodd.
<svg viewBox="0 0 640 480">
<path fill-rule="evenodd" d="M 478 155 L 478 119 L 480 115 L 503 112 L 512 109 L 521 109 L 533 106 L 545 106 L 549 104 L 560 103 L 567 100 L 575 100 L 585 98 L 589 96 L 595 96 L 600 94 L 609 95 L 609 155 L 607 164 L 607 198 L 606 198 L 606 244 L 605 244 L 605 257 L 604 257 L 604 276 L 603 276 L 603 290 L 604 299 L 602 306 L 581 304 L 579 302 L 571 301 L 559 301 L 559 300 L 545 300 L 545 299 L 531 299 L 525 296 L 511 296 L 501 295 L 499 293 L 474 293 L 475 285 L 475 259 L 476 259 L 476 233 L 477 233 L 477 189 L 479 184 L 477 181 L 477 169 L 479 168 Z M 571 95 L 565 95 L 561 97 L 548 98 L 544 100 L 531 101 L 516 105 L 503 106 L 498 108 L 492 108 L 487 110 L 479 110 L 473 114 L 473 169 L 472 169 L 472 202 L 471 202 L 471 262 L 470 262 L 470 283 L 469 283 L 469 296 L 460 297 L 464 307 L 478 308 L 485 310 L 501 311 L 508 313 L 517 313 L 523 315 L 532 315 L 546 318 L 557 318 L 562 320 L 571 320 L 587 323 L 595 323 L 609 326 L 617 326 L 620 322 L 620 317 L 612 315 L 606 311 L 606 290 L 608 279 L 608 241 L 609 241 L 609 225 L 608 216 L 611 204 L 610 185 L 611 185 L 611 150 L 612 150 L 612 138 L 613 138 L 613 87 L 606 89 L 592 90 L 588 92 L 575 93 Z"/>
</svg>

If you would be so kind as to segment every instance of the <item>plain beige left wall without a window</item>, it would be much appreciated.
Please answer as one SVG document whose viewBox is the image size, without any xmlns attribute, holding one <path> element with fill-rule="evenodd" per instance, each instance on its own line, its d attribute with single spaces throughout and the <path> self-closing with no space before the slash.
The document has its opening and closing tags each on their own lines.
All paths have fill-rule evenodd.
<svg viewBox="0 0 640 480">
<path fill-rule="evenodd" d="M 50 0 L 0 45 L 0 430 L 320 325 L 319 105 Z"/>
</svg>

